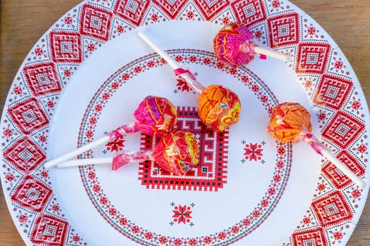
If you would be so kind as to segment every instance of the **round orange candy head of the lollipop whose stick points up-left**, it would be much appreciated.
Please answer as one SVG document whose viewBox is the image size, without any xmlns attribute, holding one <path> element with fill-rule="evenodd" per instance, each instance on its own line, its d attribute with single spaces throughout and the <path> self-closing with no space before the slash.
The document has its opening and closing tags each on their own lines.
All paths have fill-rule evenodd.
<svg viewBox="0 0 370 246">
<path fill-rule="evenodd" d="M 214 131 L 224 131 L 238 122 L 241 104 L 238 96 L 224 86 L 213 84 L 200 93 L 198 115 Z"/>
</svg>

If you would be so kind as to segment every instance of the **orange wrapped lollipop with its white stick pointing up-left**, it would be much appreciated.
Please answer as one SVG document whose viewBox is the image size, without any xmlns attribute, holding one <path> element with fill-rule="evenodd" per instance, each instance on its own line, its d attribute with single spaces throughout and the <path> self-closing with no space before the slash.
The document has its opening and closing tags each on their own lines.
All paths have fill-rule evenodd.
<svg viewBox="0 0 370 246">
<path fill-rule="evenodd" d="M 143 32 L 137 33 L 159 56 L 173 68 L 176 76 L 185 80 L 199 95 L 198 115 L 202 122 L 214 131 L 224 131 L 239 120 L 241 104 L 238 96 L 219 84 L 212 84 L 206 88 L 200 84 L 195 76 L 175 62 L 168 54 L 147 37 Z"/>
</svg>

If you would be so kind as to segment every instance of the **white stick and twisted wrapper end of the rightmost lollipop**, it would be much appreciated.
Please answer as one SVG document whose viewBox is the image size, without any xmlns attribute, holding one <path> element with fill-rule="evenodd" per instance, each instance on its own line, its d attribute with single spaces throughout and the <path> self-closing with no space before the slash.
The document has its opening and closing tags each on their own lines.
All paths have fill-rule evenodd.
<svg viewBox="0 0 370 246">
<path fill-rule="evenodd" d="M 340 171 L 343 172 L 348 178 L 350 178 L 354 183 L 357 184 L 360 188 L 364 188 L 366 186 L 366 183 L 359 178 L 354 172 L 349 169 L 345 164 L 340 162 L 335 155 L 331 152 L 331 150 L 328 150 L 313 134 L 309 133 L 308 131 L 304 131 L 301 135 L 302 140 L 309 145 L 316 151 L 316 153 L 319 153 L 323 157 L 326 157 L 328 161 L 333 163 L 335 167 L 338 167 Z"/>
</svg>

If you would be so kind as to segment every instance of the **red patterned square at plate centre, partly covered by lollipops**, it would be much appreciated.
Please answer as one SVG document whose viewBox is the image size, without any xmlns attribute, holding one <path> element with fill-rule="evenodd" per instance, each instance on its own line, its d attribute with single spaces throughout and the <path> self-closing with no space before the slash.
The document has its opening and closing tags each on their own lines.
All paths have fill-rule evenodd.
<svg viewBox="0 0 370 246">
<path fill-rule="evenodd" d="M 228 130 L 223 133 L 206 130 L 197 115 L 197 108 L 178 107 L 178 129 L 192 132 L 200 146 L 200 164 L 185 176 L 174 176 L 155 162 L 141 162 L 139 180 L 143 186 L 166 190 L 213 190 L 226 183 Z M 142 134 L 141 149 L 151 150 L 156 143 Z"/>
</svg>

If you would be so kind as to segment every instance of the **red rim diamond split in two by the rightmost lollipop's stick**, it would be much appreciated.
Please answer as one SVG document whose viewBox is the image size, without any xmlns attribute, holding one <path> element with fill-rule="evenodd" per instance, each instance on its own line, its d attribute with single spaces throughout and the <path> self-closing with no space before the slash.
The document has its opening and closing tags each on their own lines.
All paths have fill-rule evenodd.
<svg viewBox="0 0 370 246">
<path fill-rule="evenodd" d="M 359 177 L 364 176 L 364 166 L 362 166 L 362 164 L 360 164 L 359 161 L 356 160 L 356 158 L 354 158 L 352 155 L 350 155 L 350 153 L 348 153 L 346 150 L 342 150 L 337 155 L 337 158 L 338 160 L 340 160 L 340 162 L 344 163 L 348 168 L 350 168 L 354 172 L 354 174 Z M 326 174 L 326 176 L 328 176 L 331 183 L 333 183 L 337 189 L 342 189 L 352 183 L 351 179 L 343 174 L 343 172 L 335 167 L 335 165 L 331 162 L 328 162 L 322 168 L 322 171 L 323 174 Z"/>
</svg>

